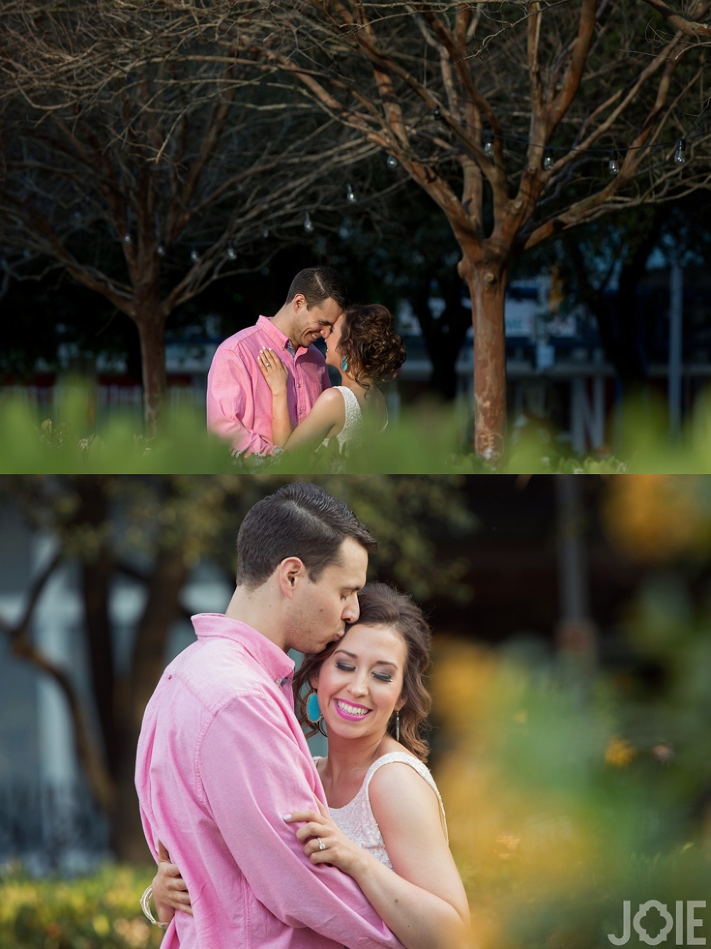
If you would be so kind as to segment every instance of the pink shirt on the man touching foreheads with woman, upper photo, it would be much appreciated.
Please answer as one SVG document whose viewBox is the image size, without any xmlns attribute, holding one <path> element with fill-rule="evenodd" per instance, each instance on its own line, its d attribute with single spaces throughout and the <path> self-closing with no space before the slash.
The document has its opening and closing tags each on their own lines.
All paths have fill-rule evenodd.
<svg viewBox="0 0 711 949">
<path fill-rule="evenodd" d="M 324 389 L 329 388 L 326 362 L 316 346 L 300 346 L 292 356 L 287 337 L 271 320 L 260 316 L 229 336 L 212 357 L 208 373 L 208 428 L 246 455 L 271 455 L 271 389 L 257 364 L 263 347 L 274 349 L 285 364 L 289 379 L 286 393 L 292 428 L 311 411 Z"/>
</svg>

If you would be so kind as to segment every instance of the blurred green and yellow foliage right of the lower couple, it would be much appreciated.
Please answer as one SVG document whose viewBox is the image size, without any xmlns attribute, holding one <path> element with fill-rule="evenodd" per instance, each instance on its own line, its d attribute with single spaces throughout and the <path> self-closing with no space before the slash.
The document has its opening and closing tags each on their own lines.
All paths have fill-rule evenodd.
<svg viewBox="0 0 711 949">
<path fill-rule="evenodd" d="M 479 949 L 610 946 L 624 901 L 634 917 L 708 900 L 709 698 L 693 682 L 711 676 L 709 628 L 703 650 L 674 638 L 684 674 L 644 700 L 579 658 L 441 646 L 435 776 Z M 695 915 L 707 937 L 708 903 Z M 650 939 L 663 924 L 658 910 L 641 923 Z M 675 932 L 667 944 L 693 944 Z"/>
</svg>

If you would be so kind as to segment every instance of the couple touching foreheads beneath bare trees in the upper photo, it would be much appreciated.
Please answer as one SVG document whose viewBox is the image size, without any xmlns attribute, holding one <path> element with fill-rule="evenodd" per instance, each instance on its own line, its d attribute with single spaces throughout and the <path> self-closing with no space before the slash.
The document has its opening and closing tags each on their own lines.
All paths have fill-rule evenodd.
<svg viewBox="0 0 711 949">
<path fill-rule="evenodd" d="M 325 340 L 325 359 L 315 345 Z M 390 311 L 348 306 L 336 270 L 311 267 L 291 282 L 273 317 L 260 316 L 217 348 L 208 375 L 208 427 L 232 451 L 353 454 L 364 431 L 385 429 L 379 381 L 392 379 L 405 347 Z M 331 386 L 327 366 L 340 373 Z"/>
</svg>

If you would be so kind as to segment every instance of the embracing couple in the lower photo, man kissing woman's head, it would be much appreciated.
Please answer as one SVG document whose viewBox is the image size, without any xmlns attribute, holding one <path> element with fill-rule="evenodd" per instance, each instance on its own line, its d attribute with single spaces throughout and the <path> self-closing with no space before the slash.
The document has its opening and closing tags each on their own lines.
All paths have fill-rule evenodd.
<svg viewBox="0 0 711 949">
<path fill-rule="evenodd" d="M 246 514 L 227 611 L 193 617 L 197 642 L 163 674 L 138 743 L 164 949 L 468 945 L 420 734 L 430 631 L 409 596 L 365 583 L 375 548 L 313 484 Z M 304 654 L 296 676 L 289 649 Z M 309 754 L 307 717 L 325 757 Z"/>
</svg>

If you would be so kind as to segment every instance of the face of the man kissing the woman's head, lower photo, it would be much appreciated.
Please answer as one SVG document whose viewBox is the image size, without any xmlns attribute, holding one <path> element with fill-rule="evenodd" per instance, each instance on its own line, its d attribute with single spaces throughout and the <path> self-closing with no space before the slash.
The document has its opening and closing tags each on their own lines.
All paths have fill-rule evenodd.
<svg viewBox="0 0 711 949">
<path fill-rule="evenodd" d="M 286 647 L 318 653 L 339 640 L 346 623 L 360 615 L 358 590 L 366 580 L 368 551 L 351 537 L 340 545 L 339 563 L 324 568 L 317 581 L 301 583 L 289 610 Z"/>
</svg>

